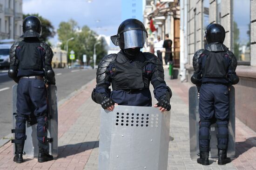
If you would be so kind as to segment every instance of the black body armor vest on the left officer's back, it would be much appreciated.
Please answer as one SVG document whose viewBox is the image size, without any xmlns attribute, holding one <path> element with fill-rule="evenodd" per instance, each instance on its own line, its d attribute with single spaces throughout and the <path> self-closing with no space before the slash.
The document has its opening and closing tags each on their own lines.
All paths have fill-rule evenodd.
<svg viewBox="0 0 256 170">
<path fill-rule="evenodd" d="M 19 46 L 21 47 L 19 69 L 43 69 L 42 57 L 37 50 L 40 43 L 21 41 Z"/>
</svg>

